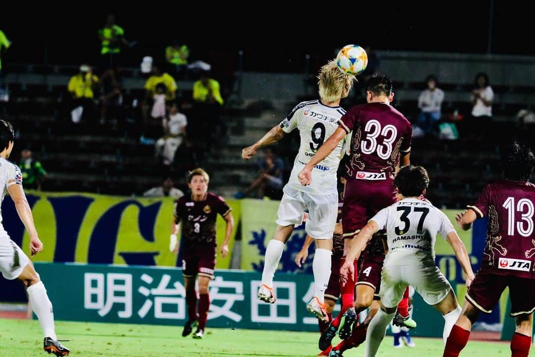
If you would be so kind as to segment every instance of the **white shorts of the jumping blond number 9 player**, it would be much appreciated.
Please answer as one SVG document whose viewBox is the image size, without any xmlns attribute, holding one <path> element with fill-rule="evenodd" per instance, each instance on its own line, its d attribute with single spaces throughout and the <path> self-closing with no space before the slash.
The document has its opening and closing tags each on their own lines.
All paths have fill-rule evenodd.
<svg viewBox="0 0 535 357">
<path fill-rule="evenodd" d="M 338 194 L 310 195 L 286 185 L 280 201 L 277 224 L 299 226 L 308 209 L 305 231 L 314 239 L 331 239 L 338 216 Z"/>
</svg>

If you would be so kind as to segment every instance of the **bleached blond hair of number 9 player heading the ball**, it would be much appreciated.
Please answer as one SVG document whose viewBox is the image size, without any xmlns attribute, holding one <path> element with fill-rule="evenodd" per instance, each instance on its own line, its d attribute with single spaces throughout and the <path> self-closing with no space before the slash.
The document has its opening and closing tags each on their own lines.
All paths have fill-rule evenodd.
<svg viewBox="0 0 535 357">
<path fill-rule="evenodd" d="M 355 80 L 354 75 L 347 75 L 340 71 L 336 60 L 333 59 L 319 70 L 319 97 L 328 103 L 345 98 L 349 94 L 351 87 L 353 87 Z"/>
</svg>

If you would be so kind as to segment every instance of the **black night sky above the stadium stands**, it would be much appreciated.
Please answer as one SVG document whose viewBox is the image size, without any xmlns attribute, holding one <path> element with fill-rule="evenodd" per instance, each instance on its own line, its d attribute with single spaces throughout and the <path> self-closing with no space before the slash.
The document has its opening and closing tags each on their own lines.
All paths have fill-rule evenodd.
<svg viewBox="0 0 535 357">
<path fill-rule="evenodd" d="M 380 50 L 486 53 L 492 7 L 491 52 L 535 55 L 532 13 L 522 3 L 338 4 L 317 10 L 311 3 L 299 9 L 267 2 L 229 3 L 226 8 L 205 4 L 197 9 L 190 5 L 181 9 L 180 3 L 173 8 L 165 3 L 89 7 L 80 3 L 78 9 L 60 5 L 56 11 L 51 11 L 53 6 L 28 4 L 30 9 L 15 10 L 3 5 L 0 29 L 13 42 L 6 62 L 95 63 L 100 49 L 97 29 L 111 12 L 126 38 L 138 41 L 136 48 L 125 52 L 129 66 L 139 66 L 142 56 L 163 56 L 165 46 L 178 38 L 190 46 L 190 60 L 226 66 L 227 71 L 237 68 L 238 51 L 244 50 L 246 71 L 302 72 L 306 54 L 323 63 L 334 57 L 335 48 L 348 43 Z M 142 5 L 151 7 L 139 10 Z"/>
</svg>

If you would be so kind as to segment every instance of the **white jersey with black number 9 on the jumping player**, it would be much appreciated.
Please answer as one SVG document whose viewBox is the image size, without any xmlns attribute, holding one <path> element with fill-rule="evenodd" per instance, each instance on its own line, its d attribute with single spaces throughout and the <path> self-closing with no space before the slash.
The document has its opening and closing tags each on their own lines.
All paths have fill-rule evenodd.
<svg viewBox="0 0 535 357">
<path fill-rule="evenodd" d="M 303 186 L 297 175 L 319 147 L 338 129 L 338 121 L 346 111 L 340 106 L 326 106 L 319 100 L 299 103 L 280 123 L 286 133 L 299 129 L 300 146 L 295 157 L 288 185 L 312 195 L 329 195 L 337 192 L 337 170 L 346 149 L 346 136 L 338 146 L 312 170 L 312 184 Z"/>
</svg>

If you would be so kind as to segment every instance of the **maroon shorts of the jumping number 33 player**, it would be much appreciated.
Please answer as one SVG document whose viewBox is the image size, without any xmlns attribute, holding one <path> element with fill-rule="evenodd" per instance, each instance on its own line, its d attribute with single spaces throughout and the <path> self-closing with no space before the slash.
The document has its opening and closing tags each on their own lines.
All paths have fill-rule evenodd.
<svg viewBox="0 0 535 357">
<path fill-rule="evenodd" d="M 353 237 L 381 209 L 396 198 L 394 180 L 350 181 L 343 191 L 342 227 L 345 238 Z"/>
</svg>

